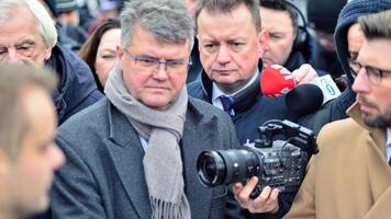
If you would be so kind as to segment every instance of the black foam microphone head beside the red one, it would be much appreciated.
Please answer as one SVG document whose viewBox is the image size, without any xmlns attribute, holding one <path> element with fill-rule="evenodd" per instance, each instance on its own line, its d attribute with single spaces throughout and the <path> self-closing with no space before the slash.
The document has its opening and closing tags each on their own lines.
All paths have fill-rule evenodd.
<svg viewBox="0 0 391 219">
<path fill-rule="evenodd" d="M 319 110 L 323 103 L 322 90 L 312 83 L 299 84 L 286 95 L 288 110 L 305 115 Z"/>
</svg>

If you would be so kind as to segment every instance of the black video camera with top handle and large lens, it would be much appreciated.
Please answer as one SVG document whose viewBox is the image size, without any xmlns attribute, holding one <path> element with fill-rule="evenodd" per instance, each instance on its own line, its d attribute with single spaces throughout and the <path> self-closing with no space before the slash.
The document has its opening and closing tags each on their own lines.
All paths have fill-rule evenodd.
<svg viewBox="0 0 391 219">
<path fill-rule="evenodd" d="M 289 120 L 267 122 L 259 131 L 264 138 L 246 142 L 243 149 L 203 151 L 197 160 L 201 183 L 212 187 L 258 176 L 252 198 L 266 185 L 282 193 L 298 191 L 309 158 L 319 151 L 313 131 Z M 273 141 L 276 135 L 287 140 Z"/>
</svg>

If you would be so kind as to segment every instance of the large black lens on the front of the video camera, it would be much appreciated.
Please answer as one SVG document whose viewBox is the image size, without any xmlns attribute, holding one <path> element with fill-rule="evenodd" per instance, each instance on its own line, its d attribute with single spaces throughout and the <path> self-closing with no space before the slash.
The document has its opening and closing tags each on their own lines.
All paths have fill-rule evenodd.
<svg viewBox="0 0 391 219">
<path fill-rule="evenodd" d="M 206 186 L 231 184 L 258 175 L 261 159 L 249 148 L 204 151 L 198 158 L 197 171 Z"/>
</svg>

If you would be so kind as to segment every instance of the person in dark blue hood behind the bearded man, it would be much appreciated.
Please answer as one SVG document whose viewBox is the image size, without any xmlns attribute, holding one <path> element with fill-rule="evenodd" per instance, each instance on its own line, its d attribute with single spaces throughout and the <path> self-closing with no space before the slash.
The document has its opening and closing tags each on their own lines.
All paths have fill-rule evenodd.
<svg viewBox="0 0 391 219">
<path fill-rule="evenodd" d="M 299 119 L 301 125 L 319 134 L 324 125 L 348 117 L 346 110 L 356 100 L 356 94 L 351 90 L 354 78 L 350 73 L 349 60 L 357 58 L 364 42 L 364 34 L 359 28 L 357 19 L 362 14 L 377 13 L 390 8 L 391 1 L 389 0 L 355 0 L 342 9 L 335 28 L 335 47 L 339 64 L 347 78 L 347 89 L 336 100 L 323 105 L 320 111 L 301 117 Z"/>
</svg>

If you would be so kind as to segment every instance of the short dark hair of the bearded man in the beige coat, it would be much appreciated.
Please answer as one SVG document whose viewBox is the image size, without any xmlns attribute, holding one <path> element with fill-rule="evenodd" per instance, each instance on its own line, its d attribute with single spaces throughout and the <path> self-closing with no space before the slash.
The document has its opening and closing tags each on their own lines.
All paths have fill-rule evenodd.
<svg viewBox="0 0 391 219">
<path fill-rule="evenodd" d="M 391 10 L 358 18 L 362 33 L 368 39 L 391 39 Z"/>
</svg>

